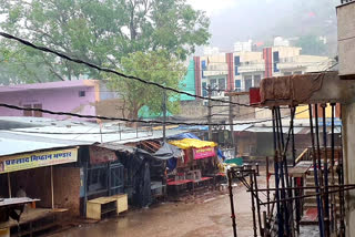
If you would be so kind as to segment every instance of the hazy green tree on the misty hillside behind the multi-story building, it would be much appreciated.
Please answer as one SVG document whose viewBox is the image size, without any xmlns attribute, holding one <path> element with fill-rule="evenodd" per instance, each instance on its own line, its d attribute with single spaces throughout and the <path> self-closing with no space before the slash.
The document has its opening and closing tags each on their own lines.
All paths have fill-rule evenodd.
<svg viewBox="0 0 355 237">
<path fill-rule="evenodd" d="M 316 35 L 307 34 L 301 37 L 296 42 L 296 47 L 302 48 L 303 54 L 326 55 L 327 48 Z"/>
</svg>

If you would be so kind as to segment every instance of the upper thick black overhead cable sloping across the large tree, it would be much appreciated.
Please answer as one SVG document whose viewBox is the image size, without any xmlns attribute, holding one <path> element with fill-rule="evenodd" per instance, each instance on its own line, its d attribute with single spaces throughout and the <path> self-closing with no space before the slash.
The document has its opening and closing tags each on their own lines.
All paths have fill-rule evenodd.
<svg viewBox="0 0 355 237">
<path fill-rule="evenodd" d="M 252 105 L 250 104 L 241 104 L 241 103 L 236 103 L 236 102 L 230 102 L 230 101 L 224 101 L 224 100 L 219 100 L 219 99 L 209 99 L 209 97 L 204 97 L 204 96 L 201 96 L 201 95 L 195 95 L 195 94 L 192 94 L 192 93 L 189 93 L 189 92 L 184 92 L 184 91 L 180 91 L 180 90 L 176 90 L 176 89 L 173 89 L 173 87 L 170 87 L 170 86 L 165 86 L 165 85 L 162 85 L 162 84 L 159 84 L 156 82 L 150 82 L 150 81 L 146 81 L 146 80 L 143 80 L 143 79 L 140 79 L 138 76 L 133 76 L 133 75 L 125 75 L 121 72 L 118 72 L 115 70 L 111 70 L 111 69 L 106 69 L 106 68 L 101 68 L 99 65 L 95 65 L 93 63 L 90 63 L 90 62 L 85 62 L 83 60 L 80 60 L 80 59 L 74 59 L 74 58 L 71 58 L 64 53 L 61 53 L 59 51 L 54 51 L 54 50 L 51 50 L 49 48 L 45 48 L 45 47 L 39 47 L 39 45 L 36 45 L 27 40 L 23 40 L 23 39 L 20 39 L 18 37 L 14 37 L 14 35 L 11 35 L 11 34 L 8 34 L 8 33 L 4 33 L 4 32 L 1 32 L 0 31 L 0 35 L 3 37 L 3 38 L 7 38 L 7 39 L 10 39 L 10 40 L 14 40 L 14 41 L 18 41 L 19 43 L 22 43 L 24 45 L 28 45 L 30 48 L 33 48 L 36 50 L 40 50 L 40 51 L 43 51 L 43 52 L 48 52 L 48 53 L 52 53 L 57 56 L 60 56 L 62 59 L 65 59 L 68 61 L 71 61 L 71 62 L 75 62 L 78 64 L 84 64 L 89 68 L 92 68 L 92 69 L 95 69 L 98 71 L 102 71 L 102 72 L 108 72 L 108 73 L 113 73 L 115 75 L 119 75 L 119 76 L 122 76 L 122 78 L 125 78 L 125 79 L 131 79 L 131 80 L 135 80 L 135 81 L 139 81 L 141 83 L 144 83 L 144 84 L 149 84 L 149 85 L 154 85 L 154 86 L 158 86 L 160 89 L 163 89 L 163 90 L 168 90 L 168 91 L 172 91 L 172 92 L 175 92 L 175 93 L 179 93 L 179 94 L 185 94 L 185 95 L 189 95 L 189 96 L 192 96 L 192 97 L 196 97 L 196 99 L 202 99 L 202 100 L 210 100 L 210 101 L 214 101 L 214 102 L 221 102 L 221 103 L 229 103 L 229 104 L 235 104 L 235 105 L 240 105 L 240 106 L 246 106 L 246 107 L 250 107 Z"/>
</svg>

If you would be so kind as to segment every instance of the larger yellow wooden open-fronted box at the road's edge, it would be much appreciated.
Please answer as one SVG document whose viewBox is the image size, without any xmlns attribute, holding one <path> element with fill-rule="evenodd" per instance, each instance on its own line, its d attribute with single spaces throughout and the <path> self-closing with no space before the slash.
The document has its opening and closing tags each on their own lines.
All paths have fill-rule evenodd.
<svg viewBox="0 0 355 237">
<path fill-rule="evenodd" d="M 102 219 L 109 215 L 116 215 L 118 212 L 116 197 L 99 197 L 87 203 L 87 218 L 90 219 Z"/>
</svg>

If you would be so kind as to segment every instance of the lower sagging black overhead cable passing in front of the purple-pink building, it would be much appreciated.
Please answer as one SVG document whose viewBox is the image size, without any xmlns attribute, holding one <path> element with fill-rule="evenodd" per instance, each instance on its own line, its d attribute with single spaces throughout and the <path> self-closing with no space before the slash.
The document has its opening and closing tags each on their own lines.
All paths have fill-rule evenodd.
<svg viewBox="0 0 355 237">
<path fill-rule="evenodd" d="M 106 120 L 106 121 L 122 121 L 122 122 L 130 122 L 130 123 L 144 123 L 144 124 L 166 124 L 166 125 L 186 125 L 186 126 L 221 126 L 221 125 L 246 125 L 246 124 L 257 124 L 257 123 L 264 123 L 264 122 L 271 122 L 273 121 L 272 118 L 268 120 L 261 120 L 261 121 L 250 121 L 250 122 L 240 122 L 240 123 L 184 123 L 184 122 L 163 122 L 163 121 L 158 121 L 158 120 L 151 120 L 151 121 L 145 121 L 145 120 L 131 120 L 131 118 L 124 118 L 124 117 L 110 117 L 110 116 L 99 116 L 99 115 L 82 115 L 82 114 L 75 114 L 75 113 L 69 113 L 69 112 L 55 112 L 55 111 L 49 111 L 49 110 L 43 110 L 43 109 L 34 109 L 34 107 L 21 107 L 17 105 L 11 105 L 11 104 L 4 104 L 0 103 L 0 107 L 7 107 L 11 110 L 18 110 L 18 111 L 36 111 L 36 112 L 41 112 L 41 113 L 47 113 L 47 114 L 52 114 L 52 115 L 61 115 L 61 116 L 73 116 L 73 117 L 81 117 L 81 118 L 92 118 L 92 120 Z M 308 111 L 308 109 L 301 111 L 296 114 L 301 114 Z M 291 115 L 286 115 L 282 118 L 288 117 Z"/>
</svg>

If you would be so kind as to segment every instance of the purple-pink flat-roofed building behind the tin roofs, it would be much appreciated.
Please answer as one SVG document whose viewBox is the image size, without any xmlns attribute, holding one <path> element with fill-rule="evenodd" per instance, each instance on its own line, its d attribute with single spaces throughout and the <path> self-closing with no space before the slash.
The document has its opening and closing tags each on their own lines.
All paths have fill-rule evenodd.
<svg viewBox="0 0 355 237">
<path fill-rule="evenodd" d="M 0 103 L 23 107 L 97 115 L 95 103 L 100 97 L 97 80 L 79 80 L 0 86 Z M 68 120 L 68 116 L 18 111 L 0 107 L 0 116 L 38 116 Z M 75 118 L 74 120 L 80 120 Z"/>
</svg>

